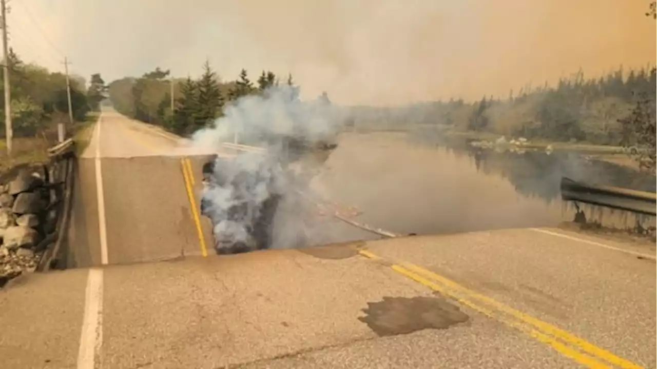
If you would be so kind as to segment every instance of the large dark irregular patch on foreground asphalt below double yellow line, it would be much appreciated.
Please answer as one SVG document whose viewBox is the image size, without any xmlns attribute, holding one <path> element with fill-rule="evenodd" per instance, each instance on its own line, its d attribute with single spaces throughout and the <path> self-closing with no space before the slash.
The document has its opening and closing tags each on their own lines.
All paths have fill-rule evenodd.
<svg viewBox="0 0 657 369">
<path fill-rule="evenodd" d="M 464 323 L 470 318 L 457 305 L 443 297 L 384 297 L 382 301 L 367 303 L 358 318 L 378 336 L 409 334 L 425 329 L 445 329 Z"/>
</svg>

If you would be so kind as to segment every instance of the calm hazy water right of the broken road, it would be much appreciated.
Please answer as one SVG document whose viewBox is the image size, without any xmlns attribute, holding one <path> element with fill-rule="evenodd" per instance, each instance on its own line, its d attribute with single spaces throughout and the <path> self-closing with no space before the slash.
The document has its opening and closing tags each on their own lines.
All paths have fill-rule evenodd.
<svg viewBox="0 0 657 369">
<path fill-rule="evenodd" d="M 560 200 L 562 176 L 657 192 L 654 177 L 574 153 L 495 152 L 430 133 L 343 135 L 315 188 L 357 207 L 357 219 L 394 232 L 440 234 L 553 227 L 572 221 Z M 625 212 L 585 207 L 603 225 L 633 227 Z"/>
</svg>

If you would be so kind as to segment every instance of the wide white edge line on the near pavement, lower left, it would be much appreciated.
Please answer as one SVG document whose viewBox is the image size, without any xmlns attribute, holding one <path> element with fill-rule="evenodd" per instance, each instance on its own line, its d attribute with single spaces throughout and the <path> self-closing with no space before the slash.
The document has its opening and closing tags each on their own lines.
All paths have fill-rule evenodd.
<svg viewBox="0 0 657 369">
<path fill-rule="evenodd" d="M 78 350 L 78 369 L 95 369 L 102 346 L 102 269 L 89 269 Z"/>
</svg>

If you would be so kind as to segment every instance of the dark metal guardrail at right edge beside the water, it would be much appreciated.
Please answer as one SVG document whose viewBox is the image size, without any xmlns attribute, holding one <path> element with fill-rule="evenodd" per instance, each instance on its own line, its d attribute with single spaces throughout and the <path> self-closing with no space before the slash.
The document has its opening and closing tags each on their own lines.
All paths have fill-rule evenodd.
<svg viewBox="0 0 657 369">
<path fill-rule="evenodd" d="M 588 185 L 562 177 L 561 198 L 565 201 L 583 202 L 645 215 L 657 215 L 657 193 L 654 192 Z"/>
</svg>

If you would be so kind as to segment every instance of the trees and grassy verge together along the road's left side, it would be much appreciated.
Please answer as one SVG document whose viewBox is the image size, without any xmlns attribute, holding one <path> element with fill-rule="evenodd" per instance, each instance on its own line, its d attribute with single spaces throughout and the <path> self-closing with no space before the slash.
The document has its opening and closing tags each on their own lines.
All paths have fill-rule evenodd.
<svg viewBox="0 0 657 369">
<path fill-rule="evenodd" d="M 70 76 L 75 121 L 71 125 L 66 76 L 37 64 L 25 63 L 14 51 L 10 51 L 9 58 L 13 150 L 9 158 L 5 141 L 5 106 L 0 104 L 0 171 L 16 165 L 44 162 L 47 148 L 57 142 L 57 124 L 65 124 L 69 137 L 88 127 L 93 122 L 105 88 L 99 74 L 91 77 L 89 89 L 83 77 Z M 0 78 L 4 78 L 1 69 Z M 3 86 L 0 86 L 0 91 L 4 93 Z"/>
</svg>

